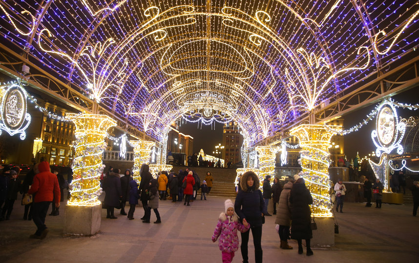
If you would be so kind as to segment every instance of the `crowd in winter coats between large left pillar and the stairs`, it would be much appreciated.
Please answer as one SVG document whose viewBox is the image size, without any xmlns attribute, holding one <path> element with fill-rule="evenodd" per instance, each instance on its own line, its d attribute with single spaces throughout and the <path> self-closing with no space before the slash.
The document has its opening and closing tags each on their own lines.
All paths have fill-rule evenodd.
<svg viewBox="0 0 419 263">
<path fill-rule="evenodd" d="M 106 218 L 117 219 L 114 214 L 115 208 L 121 209 L 120 214 L 126 215 L 128 219 L 134 219 L 135 206 L 141 201 L 144 215 L 141 218 L 143 223 L 150 223 L 151 209 L 156 215 L 155 224 L 162 223 L 158 207 L 159 201 L 171 200 L 172 203 L 184 201 L 185 206 L 196 200 L 201 190 L 201 200 L 207 200 L 210 193 L 213 178 L 207 172 L 205 180 L 201 184 L 198 174 L 189 168 L 174 171 L 160 171 L 157 178 L 153 178 L 150 168 L 143 164 L 140 168 L 141 181 L 138 185 L 132 177 L 129 169 L 123 175 L 119 174 L 120 169 L 109 167 L 108 171 L 102 174 L 101 185 L 105 191 L 103 207 L 106 208 Z M 128 214 L 125 211 L 126 202 L 129 203 Z"/>
</svg>

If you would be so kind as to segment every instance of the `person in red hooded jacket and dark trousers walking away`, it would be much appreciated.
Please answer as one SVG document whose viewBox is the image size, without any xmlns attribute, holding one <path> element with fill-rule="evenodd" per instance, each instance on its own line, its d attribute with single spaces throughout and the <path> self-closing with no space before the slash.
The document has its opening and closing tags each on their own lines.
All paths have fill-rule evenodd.
<svg viewBox="0 0 419 263">
<path fill-rule="evenodd" d="M 56 200 L 55 207 L 60 207 L 60 185 L 57 176 L 51 172 L 48 162 L 41 162 L 38 170 L 39 173 L 35 175 L 32 186 L 28 190 L 28 194 L 36 194 L 32 207 L 32 220 L 37 226 L 37 231 L 30 237 L 44 239 L 48 233 L 45 216 L 49 204 L 52 200 Z"/>
</svg>

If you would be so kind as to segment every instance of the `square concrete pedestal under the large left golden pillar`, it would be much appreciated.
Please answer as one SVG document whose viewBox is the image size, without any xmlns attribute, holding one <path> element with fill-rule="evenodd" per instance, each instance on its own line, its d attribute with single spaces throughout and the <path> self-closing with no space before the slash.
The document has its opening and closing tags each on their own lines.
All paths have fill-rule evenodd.
<svg viewBox="0 0 419 263">
<path fill-rule="evenodd" d="M 91 236 L 101 227 L 102 205 L 95 207 L 65 206 L 64 235 Z"/>
</svg>

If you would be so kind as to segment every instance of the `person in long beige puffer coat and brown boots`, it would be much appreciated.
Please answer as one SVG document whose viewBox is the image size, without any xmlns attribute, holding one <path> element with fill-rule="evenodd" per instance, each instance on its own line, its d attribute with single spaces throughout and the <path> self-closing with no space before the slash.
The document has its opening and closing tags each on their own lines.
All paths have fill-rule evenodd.
<svg viewBox="0 0 419 263">
<path fill-rule="evenodd" d="M 290 193 L 293 188 L 294 179 L 289 177 L 288 183 L 284 185 L 279 196 L 279 203 L 276 213 L 275 224 L 279 225 L 279 238 L 281 240 L 280 248 L 282 249 L 293 249 L 288 244 L 288 237 L 290 236 L 291 226 L 291 204 L 290 204 Z"/>
</svg>

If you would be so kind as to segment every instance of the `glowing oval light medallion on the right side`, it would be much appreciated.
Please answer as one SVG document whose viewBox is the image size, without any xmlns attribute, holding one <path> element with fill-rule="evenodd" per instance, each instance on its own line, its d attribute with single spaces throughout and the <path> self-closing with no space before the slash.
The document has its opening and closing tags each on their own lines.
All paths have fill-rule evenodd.
<svg viewBox="0 0 419 263">
<path fill-rule="evenodd" d="M 396 110 L 388 104 L 384 104 L 378 112 L 376 123 L 377 137 L 383 147 L 392 145 L 396 139 L 396 116 Z"/>
</svg>

